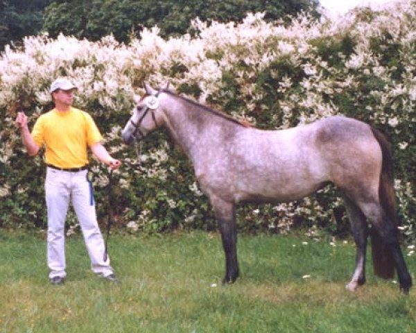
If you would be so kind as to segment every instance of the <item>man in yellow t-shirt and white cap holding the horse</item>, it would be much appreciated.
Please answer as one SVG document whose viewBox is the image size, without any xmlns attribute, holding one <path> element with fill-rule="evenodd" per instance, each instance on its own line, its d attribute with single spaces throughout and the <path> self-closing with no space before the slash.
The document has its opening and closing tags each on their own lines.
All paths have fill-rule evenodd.
<svg viewBox="0 0 416 333">
<path fill-rule="evenodd" d="M 66 78 L 58 78 L 51 84 L 55 108 L 37 119 L 32 133 L 28 130 L 28 118 L 24 112 L 19 112 L 16 119 L 28 155 L 35 156 L 42 146 L 45 147 L 49 280 L 51 284 L 63 284 L 67 275 L 64 223 L 71 200 L 83 231 L 92 271 L 116 282 L 110 259 L 105 256 L 92 187 L 87 179 L 87 148 L 112 169 L 119 168 L 121 162 L 111 157 L 101 144 L 103 137 L 92 117 L 72 107 L 74 89 L 76 86 Z"/>
</svg>

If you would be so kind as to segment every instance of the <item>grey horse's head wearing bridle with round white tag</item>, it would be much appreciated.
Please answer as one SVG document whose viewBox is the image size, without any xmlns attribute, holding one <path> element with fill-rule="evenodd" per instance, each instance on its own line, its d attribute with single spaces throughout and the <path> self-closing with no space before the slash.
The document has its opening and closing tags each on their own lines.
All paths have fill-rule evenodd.
<svg viewBox="0 0 416 333">
<path fill-rule="evenodd" d="M 134 140 L 140 141 L 160 126 L 157 121 L 159 118 L 157 116 L 157 110 L 159 109 L 158 96 L 162 89 L 167 89 L 167 87 L 168 83 L 166 87 L 155 90 L 145 83 L 146 94 L 133 109 L 132 117 L 125 124 L 121 133 L 125 144 L 131 144 Z"/>
</svg>

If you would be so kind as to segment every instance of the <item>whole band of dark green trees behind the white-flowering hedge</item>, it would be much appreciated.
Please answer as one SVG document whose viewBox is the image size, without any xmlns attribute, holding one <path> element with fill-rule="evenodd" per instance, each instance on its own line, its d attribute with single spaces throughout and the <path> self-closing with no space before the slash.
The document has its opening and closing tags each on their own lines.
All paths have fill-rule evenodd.
<svg viewBox="0 0 416 333">
<path fill-rule="evenodd" d="M 302 10 L 318 17 L 316 0 L 296 1 L 148 1 L 148 0 L 3 0 L 0 2 L 0 51 L 19 45 L 23 37 L 47 32 L 100 40 L 114 35 L 120 42 L 138 36 L 144 27 L 159 26 L 164 37 L 190 30 L 192 19 L 241 22 L 247 12 L 266 12 L 273 21 Z"/>
</svg>

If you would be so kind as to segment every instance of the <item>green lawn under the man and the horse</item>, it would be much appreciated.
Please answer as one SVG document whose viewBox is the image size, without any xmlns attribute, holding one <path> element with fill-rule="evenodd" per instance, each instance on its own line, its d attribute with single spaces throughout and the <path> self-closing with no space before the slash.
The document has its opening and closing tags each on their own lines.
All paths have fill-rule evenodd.
<svg viewBox="0 0 416 333">
<path fill-rule="evenodd" d="M 0 332 L 416 332 L 415 290 L 401 295 L 370 264 L 367 284 L 345 289 L 351 243 L 240 236 L 241 278 L 227 286 L 218 234 L 114 236 L 110 256 L 120 284 L 67 239 L 67 281 L 51 286 L 45 241 L 0 230 Z"/>
</svg>

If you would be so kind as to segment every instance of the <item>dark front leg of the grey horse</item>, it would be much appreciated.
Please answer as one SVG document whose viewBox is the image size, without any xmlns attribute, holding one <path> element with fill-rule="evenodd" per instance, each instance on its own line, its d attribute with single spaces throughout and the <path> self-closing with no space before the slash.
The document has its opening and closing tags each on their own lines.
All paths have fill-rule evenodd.
<svg viewBox="0 0 416 333">
<path fill-rule="evenodd" d="M 216 219 L 220 225 L 221 239 L 225 252 L 225 277 L 223 283 L 232 283 L 239 277 L 237 260 L 237 228 L 234 203 L 211 196 Z"/>
</svg>

